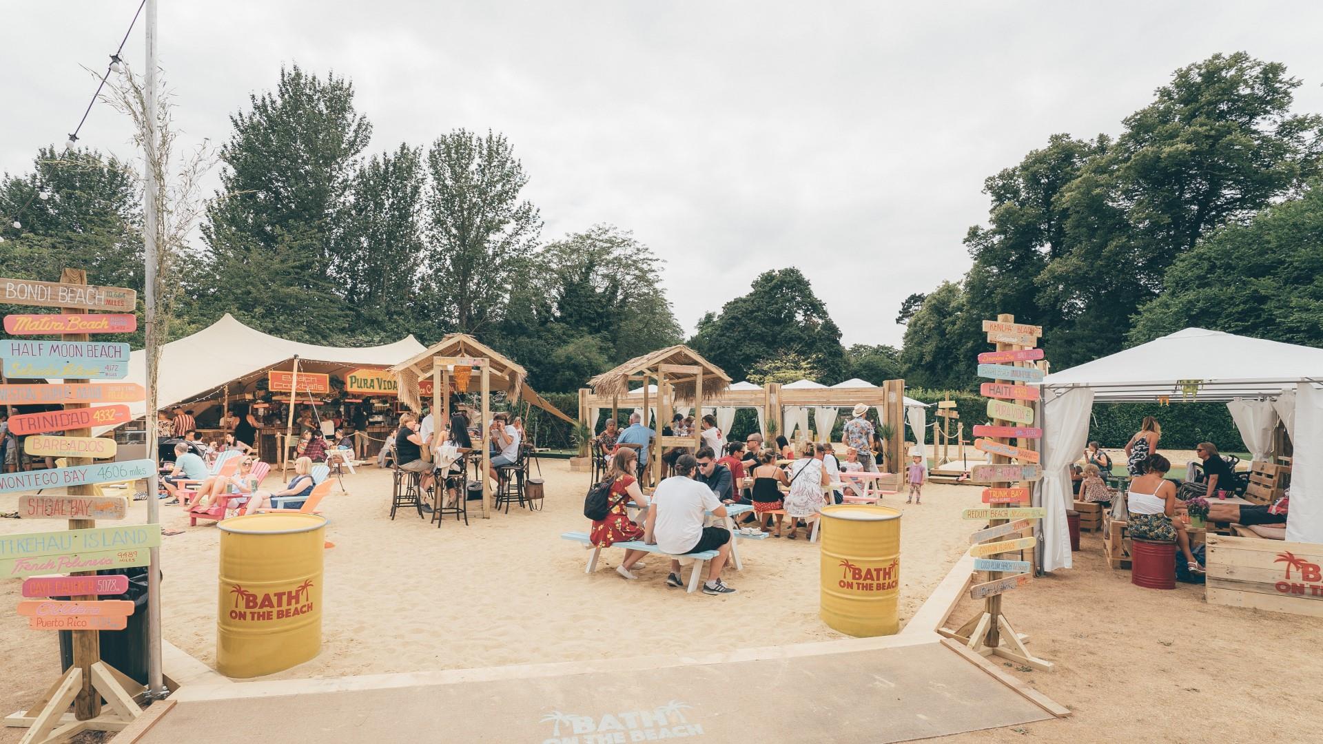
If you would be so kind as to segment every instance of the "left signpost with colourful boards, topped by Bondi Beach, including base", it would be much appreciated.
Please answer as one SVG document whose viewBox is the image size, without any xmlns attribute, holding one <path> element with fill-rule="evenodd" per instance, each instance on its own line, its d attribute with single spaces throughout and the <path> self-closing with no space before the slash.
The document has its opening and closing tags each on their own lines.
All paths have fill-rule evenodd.
<svg viewBox="0 0 1323 744">
<path fill-rule="evenodd" d="M 116 418 L 127 416 L 127 410 L 119 410 L 127 406 L 90 410 L 89 404 L 135 402 L 146 397 L 146 391 L 136 383 L 87 383 L 91 377 L 119 379 L 127 375 L 127 344 L 90 343 L 87 335 L 135 328 L 138 322 L 131 314 L 136 311 L 138 294 L 134 290 L 89 286 L 86 271 L 65 269 L 60 282 L 0 279 L 0 303 L 61 308 L 58 316 L 19 315 L 5 319 L 5 330 L 9 332 L 58 332 L 60 342 L 11 339 L 0 343 L 7 376 L 24 373 L 64 380 L 58 385 L 0 385 L 0 404 L 64 404 L 62 413 L 67 418 L 53 417 L 61 422 L 60 426 L 37 432 L 65 430 L 73 441 L 89 440 L 93 425 L 112 425 Z M 89 316 L 87 310 L 119 315 Z M 42 446 L 61 446 L 53 445 L 52 437 L 44 440 L 37 445 L 38 450 Z M 115 503 L 93 499 L 91 485 L 146 478 L 155 471 L 156 462 L 139 459 L 90 465 L 90 458 L 77 455 L 93 454 L 91 451 L 67 454 L 74 455 L 69 458 L 70 467 L 0 475 L 0 492 L 62 487 L 67 494 L 41 495 L 24 507 L 41 518 L 67 516 L 67 531 L 0 537 L 0 577 L 42 575 L 30 586 L 25 582 L 25 593 L 49 592 L 56 588 L 54 582 L 70 582 L 64 586 L 70 590 L 69 594 L 57 594 L 67 596 L 69 601 L 22 602 L 20 606 L 21 614 L 28 614 L 28 608 L 32 608 L 28 617 L 28 626 L 32 629 L 70 630 L 73 657 L 71 666 L 28 710 L 5 718 L 5 725 L 28 727 L 22 744 L 66 741 L 89 729 L 122 731 L 143 712 L 135 700 L 143 686 L 101 661 L 99 630 L 126 628 L 134 606 L 134 602 L 98 601 L 97 597 L 102 593 L 99 589 L 105 586 L 102 580 L 111 579 L 112 588 L 120 589 L 127 588 L 127 580 L 120 582 L 119 579 L 124 577 L 102 577 L 95 572 L 151 564 L 152 548 L 160 545 L 160 524 L 98 530 L 97 516 L 122 516 L 120 506 L 127 504 L 123 500 Z M 44 576 L 52 573 L 73 576 Z M 42 586 L 42 582 L 46 585 Z M 123 609 L 124 605 L 128 605 L 127 610 Z M 111 707 L 106 714 L 102 714 L 103 698 Z M 70 706 L 71 715 L 66 712 Z"/>
</svg>

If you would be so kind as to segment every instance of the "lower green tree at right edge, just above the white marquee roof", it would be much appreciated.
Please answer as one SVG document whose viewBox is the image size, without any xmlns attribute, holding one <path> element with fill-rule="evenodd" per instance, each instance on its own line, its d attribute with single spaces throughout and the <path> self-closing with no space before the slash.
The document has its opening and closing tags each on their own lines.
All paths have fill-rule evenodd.
<svg viewBox="0 0 1323 744">
<path fill-rule="evenodd" d="M 1131 343 L 1195 326 L 1323 347 L 1323 185 L 1226 225 L 1167 269 Z"/>
</svg>

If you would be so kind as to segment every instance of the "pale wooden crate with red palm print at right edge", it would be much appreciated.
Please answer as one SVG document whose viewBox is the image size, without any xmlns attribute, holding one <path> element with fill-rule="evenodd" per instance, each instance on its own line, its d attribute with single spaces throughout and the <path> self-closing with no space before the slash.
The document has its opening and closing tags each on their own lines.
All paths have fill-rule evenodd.
<svg viewBox="0 0 1323 744">
<path fill-rule="evenodd" d="M 1213 605 L 1323 617 L 1323 545 L 1208 535 Z"/>
</svg>

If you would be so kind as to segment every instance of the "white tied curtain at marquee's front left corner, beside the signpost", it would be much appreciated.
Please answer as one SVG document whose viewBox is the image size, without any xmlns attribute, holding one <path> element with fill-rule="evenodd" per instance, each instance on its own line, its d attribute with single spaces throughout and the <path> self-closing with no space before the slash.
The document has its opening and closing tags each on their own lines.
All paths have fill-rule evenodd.
<svg viewBox="0 0 1323 744">
<path fill-rule="evenodd" d="M 1070 463 L 1080 459 L 1089 441 L 1089 413 L 1093 410 L 1093 391 L 1069 388 L 1043 404 L 1043 481 L 1039 482 L 1039 502 L 1046 508 L 1040 522 L 1043 532 L 1043 571 L 1070 568 L 1070 530 L 1066 510 L 1074 500 L 1070 488 Z"/>
</svg>

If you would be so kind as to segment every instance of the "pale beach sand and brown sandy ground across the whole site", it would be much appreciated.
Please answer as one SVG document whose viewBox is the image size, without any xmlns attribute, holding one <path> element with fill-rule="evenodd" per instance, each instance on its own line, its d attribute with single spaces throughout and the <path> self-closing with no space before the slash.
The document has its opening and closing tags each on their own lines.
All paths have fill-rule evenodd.
<svg viewBox="0 0 1323 744">
<path fill-rule="evenodd" d="M 546 510 L 512 510 L 468 527 L 438 530 L 415 515 L 388 516 L 389 474 L 361 469 L 348 494 L 324 503 L 332 519 L 325 553 L 324 650 L 275 678 L 499 666 L 597 658 L 732 650 L 840 637 L 818 620 L 816 545 L 803 540 L 747 541 L 745 571 L 728 571 L 740 589 L 729 597 L 685 594 L 663 585 L 652 559 L 643 580 L 611 569 L 618 553 L 583 575 L 586 551 L 558 539 L 585 530 L 587 475 L 546 461 Z M 922 506 L 905 507 L 901 545 L 902 621 L 909 618 L 967 545 L 959 511 L 979 504 L 979 490 L 926 488 Z M 12 508 L 0 496 L 0 511 Z M 896 506 L 897 499 L 890 503 Z M 135 503 L 132 519 L 144 504 Z M 214 527 L 188 528 L 175 507 L 167 526 L 163 593 L 165 638 L 214 663 Z M 0 520 L 0 534 L 56 528 L 56 522 Z M 1323 624 L 1261 610 L 1208 605 L 1201 585 L 1174 592 L 1140 589 L 1127 571 L 1102 561 L 1099 534 L 1084 536 L 1072 571 L 1037 579 L 1007 596 L 1005 608 L 1029 647 L 1056 662 L 1053 673 L 1008 671 L 1074 711 L 1066 720 L 947 737 L 951 741 L 1323 741 L 1323 667 L 1315 650 Z M 615 553 L 615 555 L 613 555 Z M 0 584 L 5 605 L 19 582 Z M 959 625 L 975 612 L 964 601 Z M 4 712 L 20 708 L 58 674 L 53 633 L 28 630 L 16 613 L 0 614 Z M 0 729 L 0 743 L 19 729 Z"/>
</svg>

